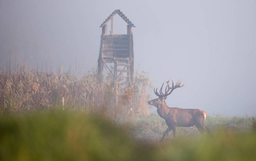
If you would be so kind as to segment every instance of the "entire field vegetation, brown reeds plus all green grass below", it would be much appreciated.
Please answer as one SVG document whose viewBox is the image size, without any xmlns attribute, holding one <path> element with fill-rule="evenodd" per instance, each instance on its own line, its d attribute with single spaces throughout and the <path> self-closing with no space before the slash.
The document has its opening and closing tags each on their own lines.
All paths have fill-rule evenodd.
<svg viewBox="0 0 256 161">
<path fill-rule="evenodd" d="M 171 132 L 159 142 L 167 126 L 149 115 L 144 72 L 112 106 L 113 81 L 98 83 L 95 70 L 78 78 L 61 68 L 16 66 L 0 69 L 1 161 L 256 159 L 255 122 L 248 116 L 208 116 L 211 136 L 179 127 L 175 140 Z"/>
</svg>

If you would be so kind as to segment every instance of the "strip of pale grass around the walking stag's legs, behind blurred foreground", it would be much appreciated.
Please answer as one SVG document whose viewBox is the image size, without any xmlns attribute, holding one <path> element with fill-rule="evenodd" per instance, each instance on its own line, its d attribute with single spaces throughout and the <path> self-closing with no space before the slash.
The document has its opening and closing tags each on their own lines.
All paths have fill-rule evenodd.
<svg viewBox="0 0 256 161">
<path fill-rule="evenodd" d="M 146 142 L 160 141 L 164 131 L 167 129 L 165 120 L 160 118 L 158 114 L 150 116 L 141 116 L 140 119 L 129 122 L 131 127 L 131 135 L 136 140 Z M 242 116 L 211 116 L 206 119 L 206 126 L 211 130 L 211 133 L 218 133 L 220 130 L 226 130 L 229 133 L 249 133 L 252 131 L 253 120 L 250 117 Z M 177 127 L 177 137 L 201 137 L 198 129 L 193 127 Z M 166 135 L 165 140 L 173 140 L 172 131 Z"/>
</svg>

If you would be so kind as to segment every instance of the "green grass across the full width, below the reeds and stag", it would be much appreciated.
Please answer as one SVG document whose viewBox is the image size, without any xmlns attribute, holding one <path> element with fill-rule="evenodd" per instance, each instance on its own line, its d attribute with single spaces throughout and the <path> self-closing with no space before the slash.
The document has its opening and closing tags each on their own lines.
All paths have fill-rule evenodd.
<svg viewBox="0 0 256 161">
<path fill-rule="evenodd" d="M 10 114 L 0 118 L 0 160 L 255 160 L 256 134 L 235 129 L 247 120 L 209 117 L 213 136 L 178 128 L 176 140 L 170 133 L 159 143 L 157 115 L 127 123 L 58 110 Z"/>
</svg>

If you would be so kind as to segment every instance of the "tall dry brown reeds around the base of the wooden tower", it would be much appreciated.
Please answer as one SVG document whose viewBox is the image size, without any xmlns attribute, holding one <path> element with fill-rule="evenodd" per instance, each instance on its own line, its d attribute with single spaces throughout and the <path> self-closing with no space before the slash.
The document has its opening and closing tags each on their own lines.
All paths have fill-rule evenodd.
<svg viewBox="0 0 256 161">
<path fill-rule="evenodd" d="M 147 89 L 151 82 L 145 72 L 135 74 L 134 86 L 119 94 L 116 104 L 113 104 L 112 82 L 112 78 L 106 76 L 98 83 L 95 69 L 79 79 L 61 67 L 56 72 L 38 72 L 24 63 L 14 71 L 0 69 L 0 113 L 31 113 L 56 107 L 107 114 L 114 119 L 149 113 Z"/>
</svg>

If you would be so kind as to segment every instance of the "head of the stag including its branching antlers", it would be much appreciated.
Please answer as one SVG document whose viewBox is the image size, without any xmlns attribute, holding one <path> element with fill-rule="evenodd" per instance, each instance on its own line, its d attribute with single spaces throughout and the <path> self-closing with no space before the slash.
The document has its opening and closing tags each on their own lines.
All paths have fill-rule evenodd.
<svg viewBox="0 0 256 161">
<path fill-rule="evenodd" d="M 158 88 L 156 88 L 156 87 L 154 88 L 154 92 L 155 92 L 156 96 L 158 96 L 158 98 L 148 101 L 149 105 L 155 106 L 157 108 L 159 106 L 166 105 L 164 100 L 167 98 L 167 96 L 169 96 L 172 93 L 172 91 L 177 89 L 178 87 L 185 86 L 184 84 L 182 84 L 181 79 L 178 80 L 178 82 L 174 85 L 173 78 L 172 78 L 172 87 L 170 87 L 169 82 L 170 82 L 170 79 L 168 81 L 166 81 L 167 85 L 165 87 L 165 93 L 163 92 L 163 86 L 164 86 L 165 82 L 161 86 L 159 93 L 157 92 Z"/>
</svg>

